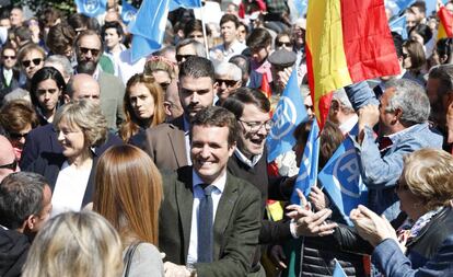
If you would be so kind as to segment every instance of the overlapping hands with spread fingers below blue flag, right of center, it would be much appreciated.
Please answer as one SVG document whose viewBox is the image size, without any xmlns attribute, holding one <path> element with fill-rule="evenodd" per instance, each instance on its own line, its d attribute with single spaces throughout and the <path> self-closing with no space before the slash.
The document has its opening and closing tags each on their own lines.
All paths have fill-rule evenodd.
<svg viewBox="0 0 453 277">
<path fill-rule="evenodd" d="M 287 207 L 290 210 L 287 216 L 294 220 L 297 224 L 298 235 L 304 236 L 323 236 L 334 232 L 337 227 L 335 222 L 325 222 L 325 220 L 332 215 L 330 209 L 322 209 L 317 212 L 310 210 L 305 197 L 300 189 L 297 189 L 301 205 L 290 205 Z"/>
</svg>

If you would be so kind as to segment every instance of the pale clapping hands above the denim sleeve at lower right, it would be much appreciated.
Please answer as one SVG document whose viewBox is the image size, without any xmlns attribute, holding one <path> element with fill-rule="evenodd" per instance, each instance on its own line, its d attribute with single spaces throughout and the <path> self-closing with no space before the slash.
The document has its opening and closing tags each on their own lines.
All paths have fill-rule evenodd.
<svg viewBox="0 0 453 277">
<path fill-rule="evenodd" d="M 394 239 L 398 242 L 395 230 L 384 216 L 380 217 L 367 207 L 359 205 L 357 209 L 351 210 L 349 217 L 360 236 L 369 241 L 373 246 L 386 239 Z"/>
</svg>

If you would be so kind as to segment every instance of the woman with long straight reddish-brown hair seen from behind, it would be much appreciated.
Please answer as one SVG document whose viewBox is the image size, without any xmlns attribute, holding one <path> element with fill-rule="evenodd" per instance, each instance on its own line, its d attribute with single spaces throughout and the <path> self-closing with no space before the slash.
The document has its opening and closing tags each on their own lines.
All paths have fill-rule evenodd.
<svg viewBox="0 0 453 277">
<path fill-rule="evenodd" d="M 115 146 L 101 155 L 93 210 L 119 232 L 125 274 L 163 276 L 159 243 L 162 177 L 151 158 L 137 147 Z"/>
</svg>

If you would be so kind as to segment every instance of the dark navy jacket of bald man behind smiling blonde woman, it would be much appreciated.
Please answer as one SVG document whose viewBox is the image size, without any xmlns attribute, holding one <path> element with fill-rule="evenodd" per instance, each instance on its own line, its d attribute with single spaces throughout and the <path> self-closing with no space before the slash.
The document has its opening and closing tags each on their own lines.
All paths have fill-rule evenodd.
<svg viewBox="0 0 453 277">
<path fill-rule="evenodd" d="M 104 145 L 96 147 L 94 152 L 97 157 L 104 153 L 112 146 L 120 146 L 123 140 L 116 135 L 108 134 L 107 140 Z M 24 150 L 22 151 L 20 166 L 22 169 L 28 168 L 42 154 L 62 153 L 62 149 L 57 139 L 57 131 L 53 124 L 47 124 L 37 127 L 28 132 L 25 140 Z"/>
</svg>

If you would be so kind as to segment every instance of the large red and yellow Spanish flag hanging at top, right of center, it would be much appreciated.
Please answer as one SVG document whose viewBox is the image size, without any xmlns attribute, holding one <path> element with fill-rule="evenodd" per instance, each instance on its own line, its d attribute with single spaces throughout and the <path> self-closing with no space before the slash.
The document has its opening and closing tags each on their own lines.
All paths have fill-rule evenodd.
<svg viewBox="0 0 453 277">
<path fill-rule="evenodd" d="M 345 85 L 399 73 L 383 0 L 309 1 L 306 66 L 320 126 L 332 92 Z"/>
</svg>

